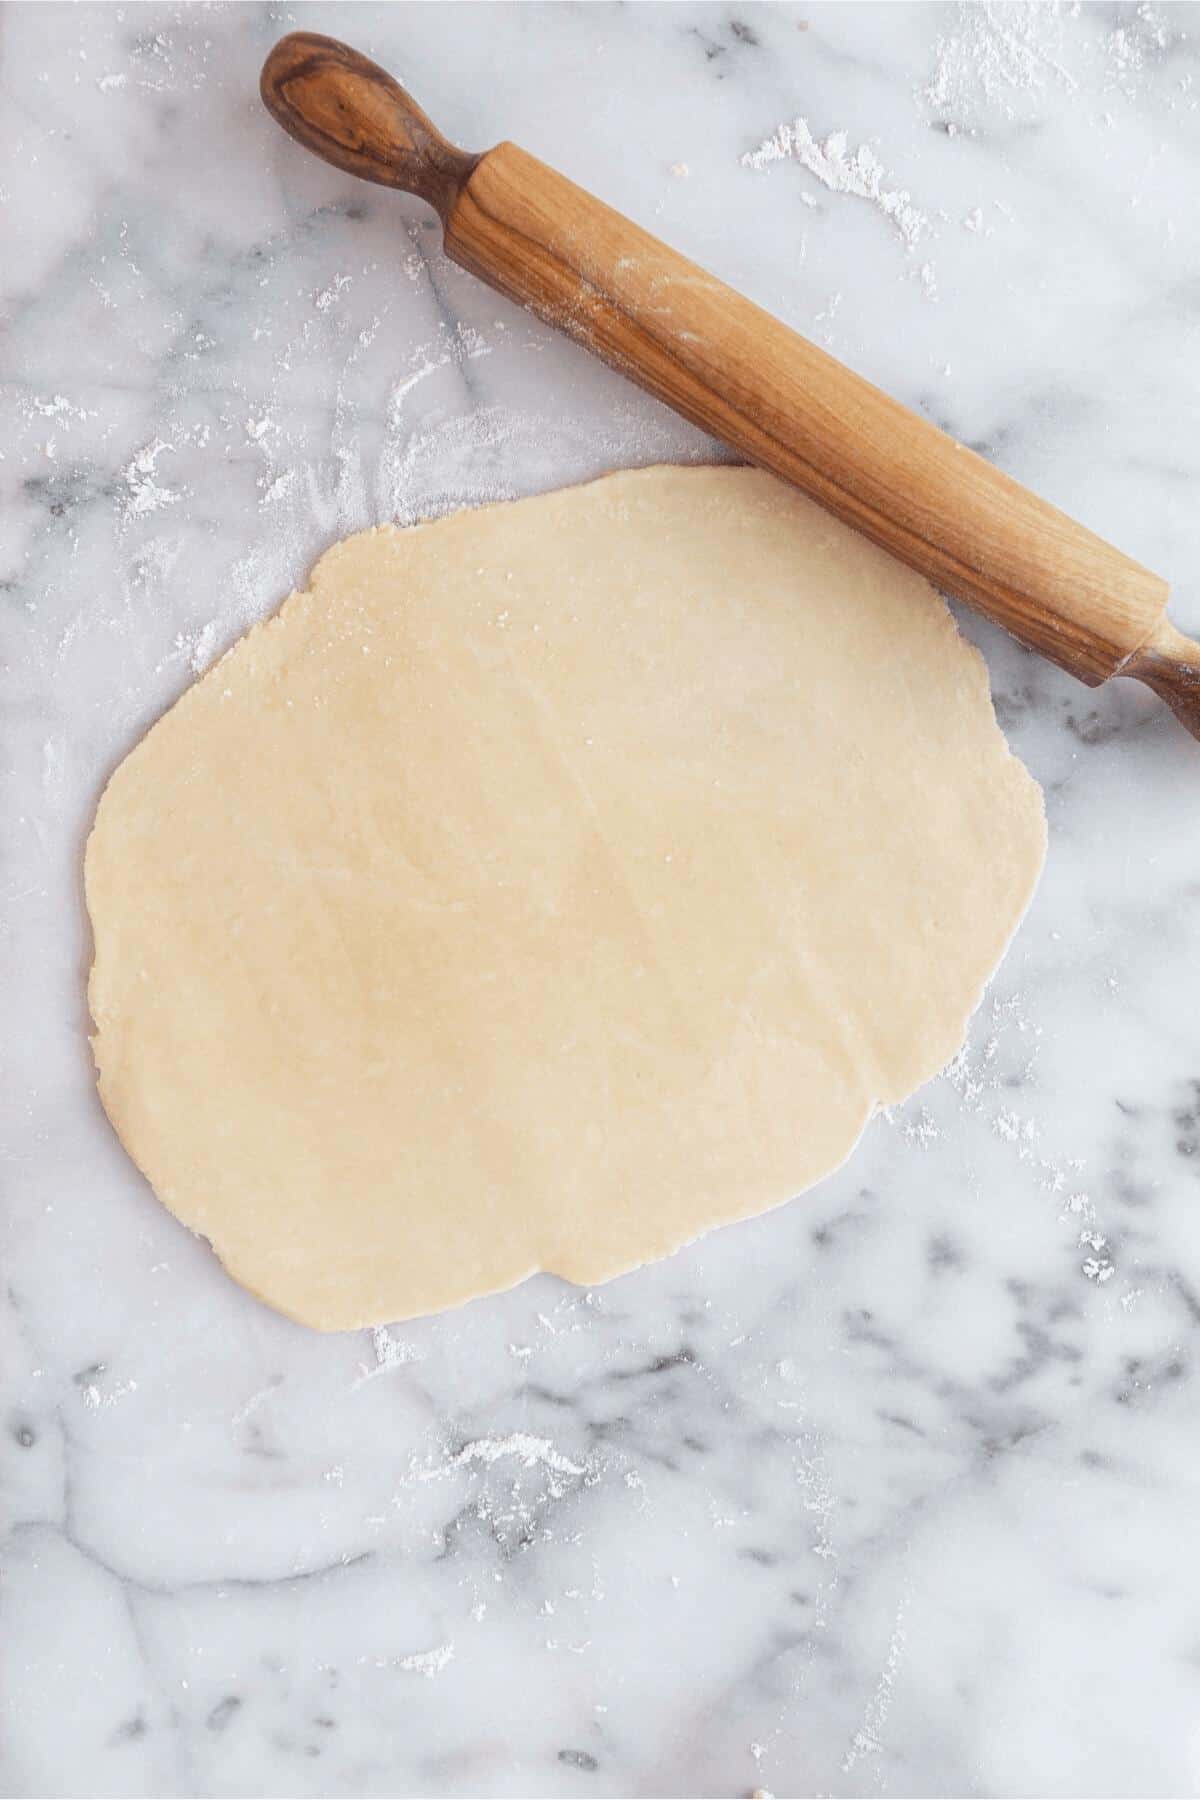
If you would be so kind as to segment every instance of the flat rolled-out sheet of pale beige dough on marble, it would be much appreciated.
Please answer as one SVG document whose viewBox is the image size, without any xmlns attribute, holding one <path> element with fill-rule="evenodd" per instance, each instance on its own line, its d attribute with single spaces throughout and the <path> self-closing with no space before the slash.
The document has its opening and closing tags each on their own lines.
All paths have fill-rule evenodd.
<svg viewBox="0 0 1200 1800">
<path fill-rule="evenodd" d="M 946 1064 L 1043 839 L 937 594 L 768 475 L 383 526 L 108 783 L 101 1096 L 308 1325 L 604 1282 Z"/>
</svg>

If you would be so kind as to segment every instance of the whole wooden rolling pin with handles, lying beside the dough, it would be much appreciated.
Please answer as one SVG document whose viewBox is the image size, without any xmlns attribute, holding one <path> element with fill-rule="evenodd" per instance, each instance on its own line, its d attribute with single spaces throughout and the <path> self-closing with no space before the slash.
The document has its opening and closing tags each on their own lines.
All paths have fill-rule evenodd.
<svg viewBox="0 0 1200 1800">
<path fill-rule="evenodd" d="M 1079 680 L 1148 682 L 1200 738 L 1200 644 L 1160 576 L 516 144 L 448 144 L 335 38 L 282 38 L 261 92 L 326 162 L 435 207 L 462 268 Z"/>
</svg>

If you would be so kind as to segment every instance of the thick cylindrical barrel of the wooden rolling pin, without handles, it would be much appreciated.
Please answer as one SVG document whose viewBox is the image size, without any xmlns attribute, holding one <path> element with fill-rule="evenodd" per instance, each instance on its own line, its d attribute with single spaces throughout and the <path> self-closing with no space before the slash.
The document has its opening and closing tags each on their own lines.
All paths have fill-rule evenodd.
<svg viewBox="0 0 1200 1800">
<path fill-rule="evenodd" d="M 480 157 L 446 254 L 1090 684 L 1166 607 L 1160 576 L 515 144 Z"/>
</svg>

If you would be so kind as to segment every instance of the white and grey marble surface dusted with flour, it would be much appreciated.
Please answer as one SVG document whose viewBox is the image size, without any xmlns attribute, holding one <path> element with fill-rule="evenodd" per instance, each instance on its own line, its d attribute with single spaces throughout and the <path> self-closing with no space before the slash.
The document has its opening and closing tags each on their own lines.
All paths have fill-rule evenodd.
<svg viewBox="0 0 1200 1800">
<path fill-rule="evenodd" d="M 1200 626 L 1198 7 L 4 7 L 4 1791 L 1195 1793 L 1200 749 L 1142 689 L 968 623 L 1045 878 L 959 1064 L 768 1219 L 320 1337 L 113 1141 L 79 860 L 142 729 L 340 533 L 714 454 L 279 133 L 299 23 Z M 833 187 L 741 162 L 797 117 Z"/>
</svg>

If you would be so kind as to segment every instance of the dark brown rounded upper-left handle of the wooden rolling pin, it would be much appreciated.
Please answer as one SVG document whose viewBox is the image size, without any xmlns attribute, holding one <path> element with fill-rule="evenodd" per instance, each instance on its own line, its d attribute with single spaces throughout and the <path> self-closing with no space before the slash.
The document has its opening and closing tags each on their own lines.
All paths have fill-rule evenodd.
<svg viewBox="0 0 1200 1800">
<path fill-rule="evenodd" d="M 479 162 L 446 142 L 385 68 L 315 31 L 279 40 L 263 63 L 259 92 L 306 149 L 347 175 L 419 194 L 443 221 Z"/>
</svg>

